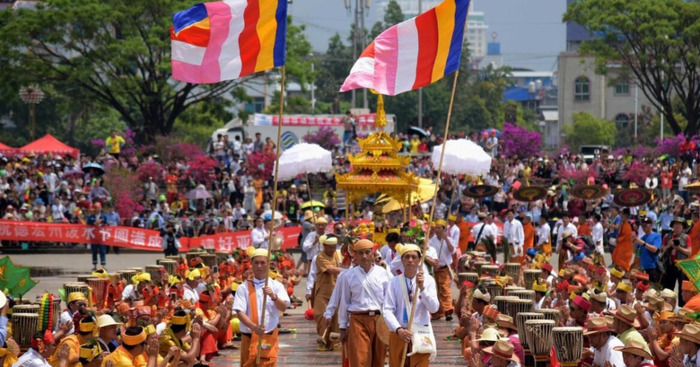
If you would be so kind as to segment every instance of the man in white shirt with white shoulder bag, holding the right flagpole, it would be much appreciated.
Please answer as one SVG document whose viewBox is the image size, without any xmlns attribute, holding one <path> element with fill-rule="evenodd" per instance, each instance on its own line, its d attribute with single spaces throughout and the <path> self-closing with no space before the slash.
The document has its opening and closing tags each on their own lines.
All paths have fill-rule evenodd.
<svg viewBox="0 0 700 367">
<path fill-rule="evenodd" d="M 413 326 L 430 326 L 430 314 L 437 312 L 440 303 L 437 298 L 435 280 L 429 274 L 418 272 L 421 259 L 420 248 L 416 245 L 403 245 L 399 248 L 404 274 L 389 282 L 384 296 L 382 316 L 389 331 L 389 366 L 399 366 L 404 345 L 411 342 L 413 333 L 407 329 L 415 292 L 416 298 Z M 415 330 L 415 328 L 413 328 Z M 411 353 L 406 349 L 406 353 Z M 430 354 L 413 354 L 406 357 L 410 366 L 428 366 Z"/>
</svg>

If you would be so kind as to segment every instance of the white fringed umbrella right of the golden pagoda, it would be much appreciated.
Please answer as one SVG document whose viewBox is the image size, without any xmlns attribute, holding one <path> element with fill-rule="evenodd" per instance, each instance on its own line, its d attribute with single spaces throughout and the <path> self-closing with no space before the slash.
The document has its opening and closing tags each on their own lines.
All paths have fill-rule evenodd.
<svg viewBox="0 0 700 367">
<path fill-rule="evenodd" d="M 448 140 L 445 144 L 445 157 L 442 171 L 451 175 L 485 175 L 491 170 L 491 156 L 484 149 L 467 139 Z M 433 167 L 440 165 L 442 144 L 433 148 L 430 157 Z"/>
</svg>

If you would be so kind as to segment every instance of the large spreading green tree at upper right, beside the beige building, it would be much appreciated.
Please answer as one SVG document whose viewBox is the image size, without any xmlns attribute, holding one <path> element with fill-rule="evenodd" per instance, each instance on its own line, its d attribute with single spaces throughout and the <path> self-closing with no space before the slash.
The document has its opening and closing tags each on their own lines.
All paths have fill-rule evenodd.
<svg viewBox="0 0 700 367">
<path fill-rule="evenodd" d="M 595 56 L 596 71 L 621 67 L 620 77 L 635 80 L 674 134 L 685 136 L 700 127 L 698 18 L 700 2 L 684 0 L 579 0 L 564 14 L 596 36 L 580 49 Z M 687 120 L 685 128 L 677 112 Z"/>
</svg>

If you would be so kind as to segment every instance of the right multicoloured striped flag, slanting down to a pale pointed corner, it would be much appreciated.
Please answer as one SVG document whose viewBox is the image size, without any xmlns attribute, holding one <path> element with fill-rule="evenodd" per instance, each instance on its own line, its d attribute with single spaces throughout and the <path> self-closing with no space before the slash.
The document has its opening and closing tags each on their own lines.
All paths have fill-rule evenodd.
<svg viewBox="0 0 700 367">
<path fill-rule="evenodd" d="M 469 0 L 445 0 L 385 30 L 367 46 L 341 92 L 372 88 L 393 96 L 459 69 Z"/>
</svg>

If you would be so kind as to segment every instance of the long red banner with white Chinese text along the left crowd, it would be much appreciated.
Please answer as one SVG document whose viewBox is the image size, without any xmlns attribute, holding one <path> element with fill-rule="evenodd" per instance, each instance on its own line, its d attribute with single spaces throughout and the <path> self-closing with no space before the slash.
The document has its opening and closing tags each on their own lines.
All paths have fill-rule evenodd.
<svg viewBox="0 0 700 367">
<path fill-rule="evenodd" d="M 286 227 L 275 234 L 282 237 L 282 248 L 289 249 L 298 246 L 300 232 L 301 227 Z M 162 251 L 160 232 L 136 227 L 95 227 L 83 224 L 0 220 L 0 240 L 83 243 Z M 250 231 L 242 231 L 194 238 L 181 237 L 180 243 L 181 251 L 205 248 L 230 252 L 234 248 L 247 248 L 252 241 Z"/>
</svg>

